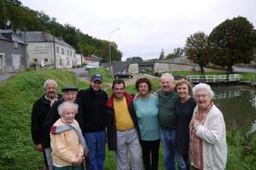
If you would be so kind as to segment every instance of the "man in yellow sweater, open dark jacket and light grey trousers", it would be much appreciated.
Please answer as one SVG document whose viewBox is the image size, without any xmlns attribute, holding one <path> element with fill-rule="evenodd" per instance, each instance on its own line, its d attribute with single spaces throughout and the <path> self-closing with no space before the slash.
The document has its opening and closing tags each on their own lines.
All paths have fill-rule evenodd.
<svg viewBox="0 0 256 170">
<path fill-rule="evenodd" d="M 125 82 L 116 79 L 112 85 L 113 94 L 108 100 L 108 150 L 115 151 L 118 169 L 143 169 L 142 148 L 139 143 L 139 128 L 132 97 L 125 92 Z M 118 139 L 118 142 L 117 142 Z"/>
</svg>

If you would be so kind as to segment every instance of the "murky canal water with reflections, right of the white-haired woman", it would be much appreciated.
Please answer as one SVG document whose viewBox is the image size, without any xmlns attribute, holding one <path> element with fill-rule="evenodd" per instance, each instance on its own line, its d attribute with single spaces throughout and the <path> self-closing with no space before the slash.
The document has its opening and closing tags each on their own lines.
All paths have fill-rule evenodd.
<svg viewBox="0 0 256 170">
<path fill-rule="evenodd" d="M 223 112 L 227 129 L 236 126 L 246 131 L 256 130 L 256 88 L 228 86 L 212 89 L 215 94 L 212 100 Z"/>
</svg>

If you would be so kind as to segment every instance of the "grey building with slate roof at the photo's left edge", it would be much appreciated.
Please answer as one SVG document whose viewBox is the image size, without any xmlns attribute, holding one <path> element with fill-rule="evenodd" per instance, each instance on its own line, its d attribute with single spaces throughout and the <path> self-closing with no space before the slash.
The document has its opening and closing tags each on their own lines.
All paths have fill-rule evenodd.
<svg viewBox="0 0 256 170">
<path fill-rule="evenodd" d="M 20 32 L 0 30 L 0 73 L 26 70 L 24 41 Z"/>
</svg>

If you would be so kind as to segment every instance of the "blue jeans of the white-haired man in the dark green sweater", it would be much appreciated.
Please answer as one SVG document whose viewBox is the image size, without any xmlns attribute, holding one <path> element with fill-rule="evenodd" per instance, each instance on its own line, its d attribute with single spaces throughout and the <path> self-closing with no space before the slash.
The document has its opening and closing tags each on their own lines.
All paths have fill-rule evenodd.
<svg viewBox="0 0 256 170">
<path fill-rule="evenodd" d="M 176 130 L 166 130 L 160 127 L 160 139 L 163 147 L 163 156 L 166 170 L 175 170 L 175 140 Z"/>
</svg>

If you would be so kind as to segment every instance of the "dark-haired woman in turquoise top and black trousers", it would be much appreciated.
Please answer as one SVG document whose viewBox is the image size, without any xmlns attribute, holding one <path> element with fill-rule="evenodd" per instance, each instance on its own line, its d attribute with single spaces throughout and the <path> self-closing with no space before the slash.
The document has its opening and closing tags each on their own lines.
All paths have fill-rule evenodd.
<svg viewBox="0 0 256 170">
<path fill-rule="evenodd" d="M 145 170 L 157 170 L 160 147 L 158 98 L 156 95 L 150 94 L 151 82 L 148 78 L 138 79 L 135 86 L 139 95 L 133 105 L 140 129 L 144 167 Z"/>
</svg>

